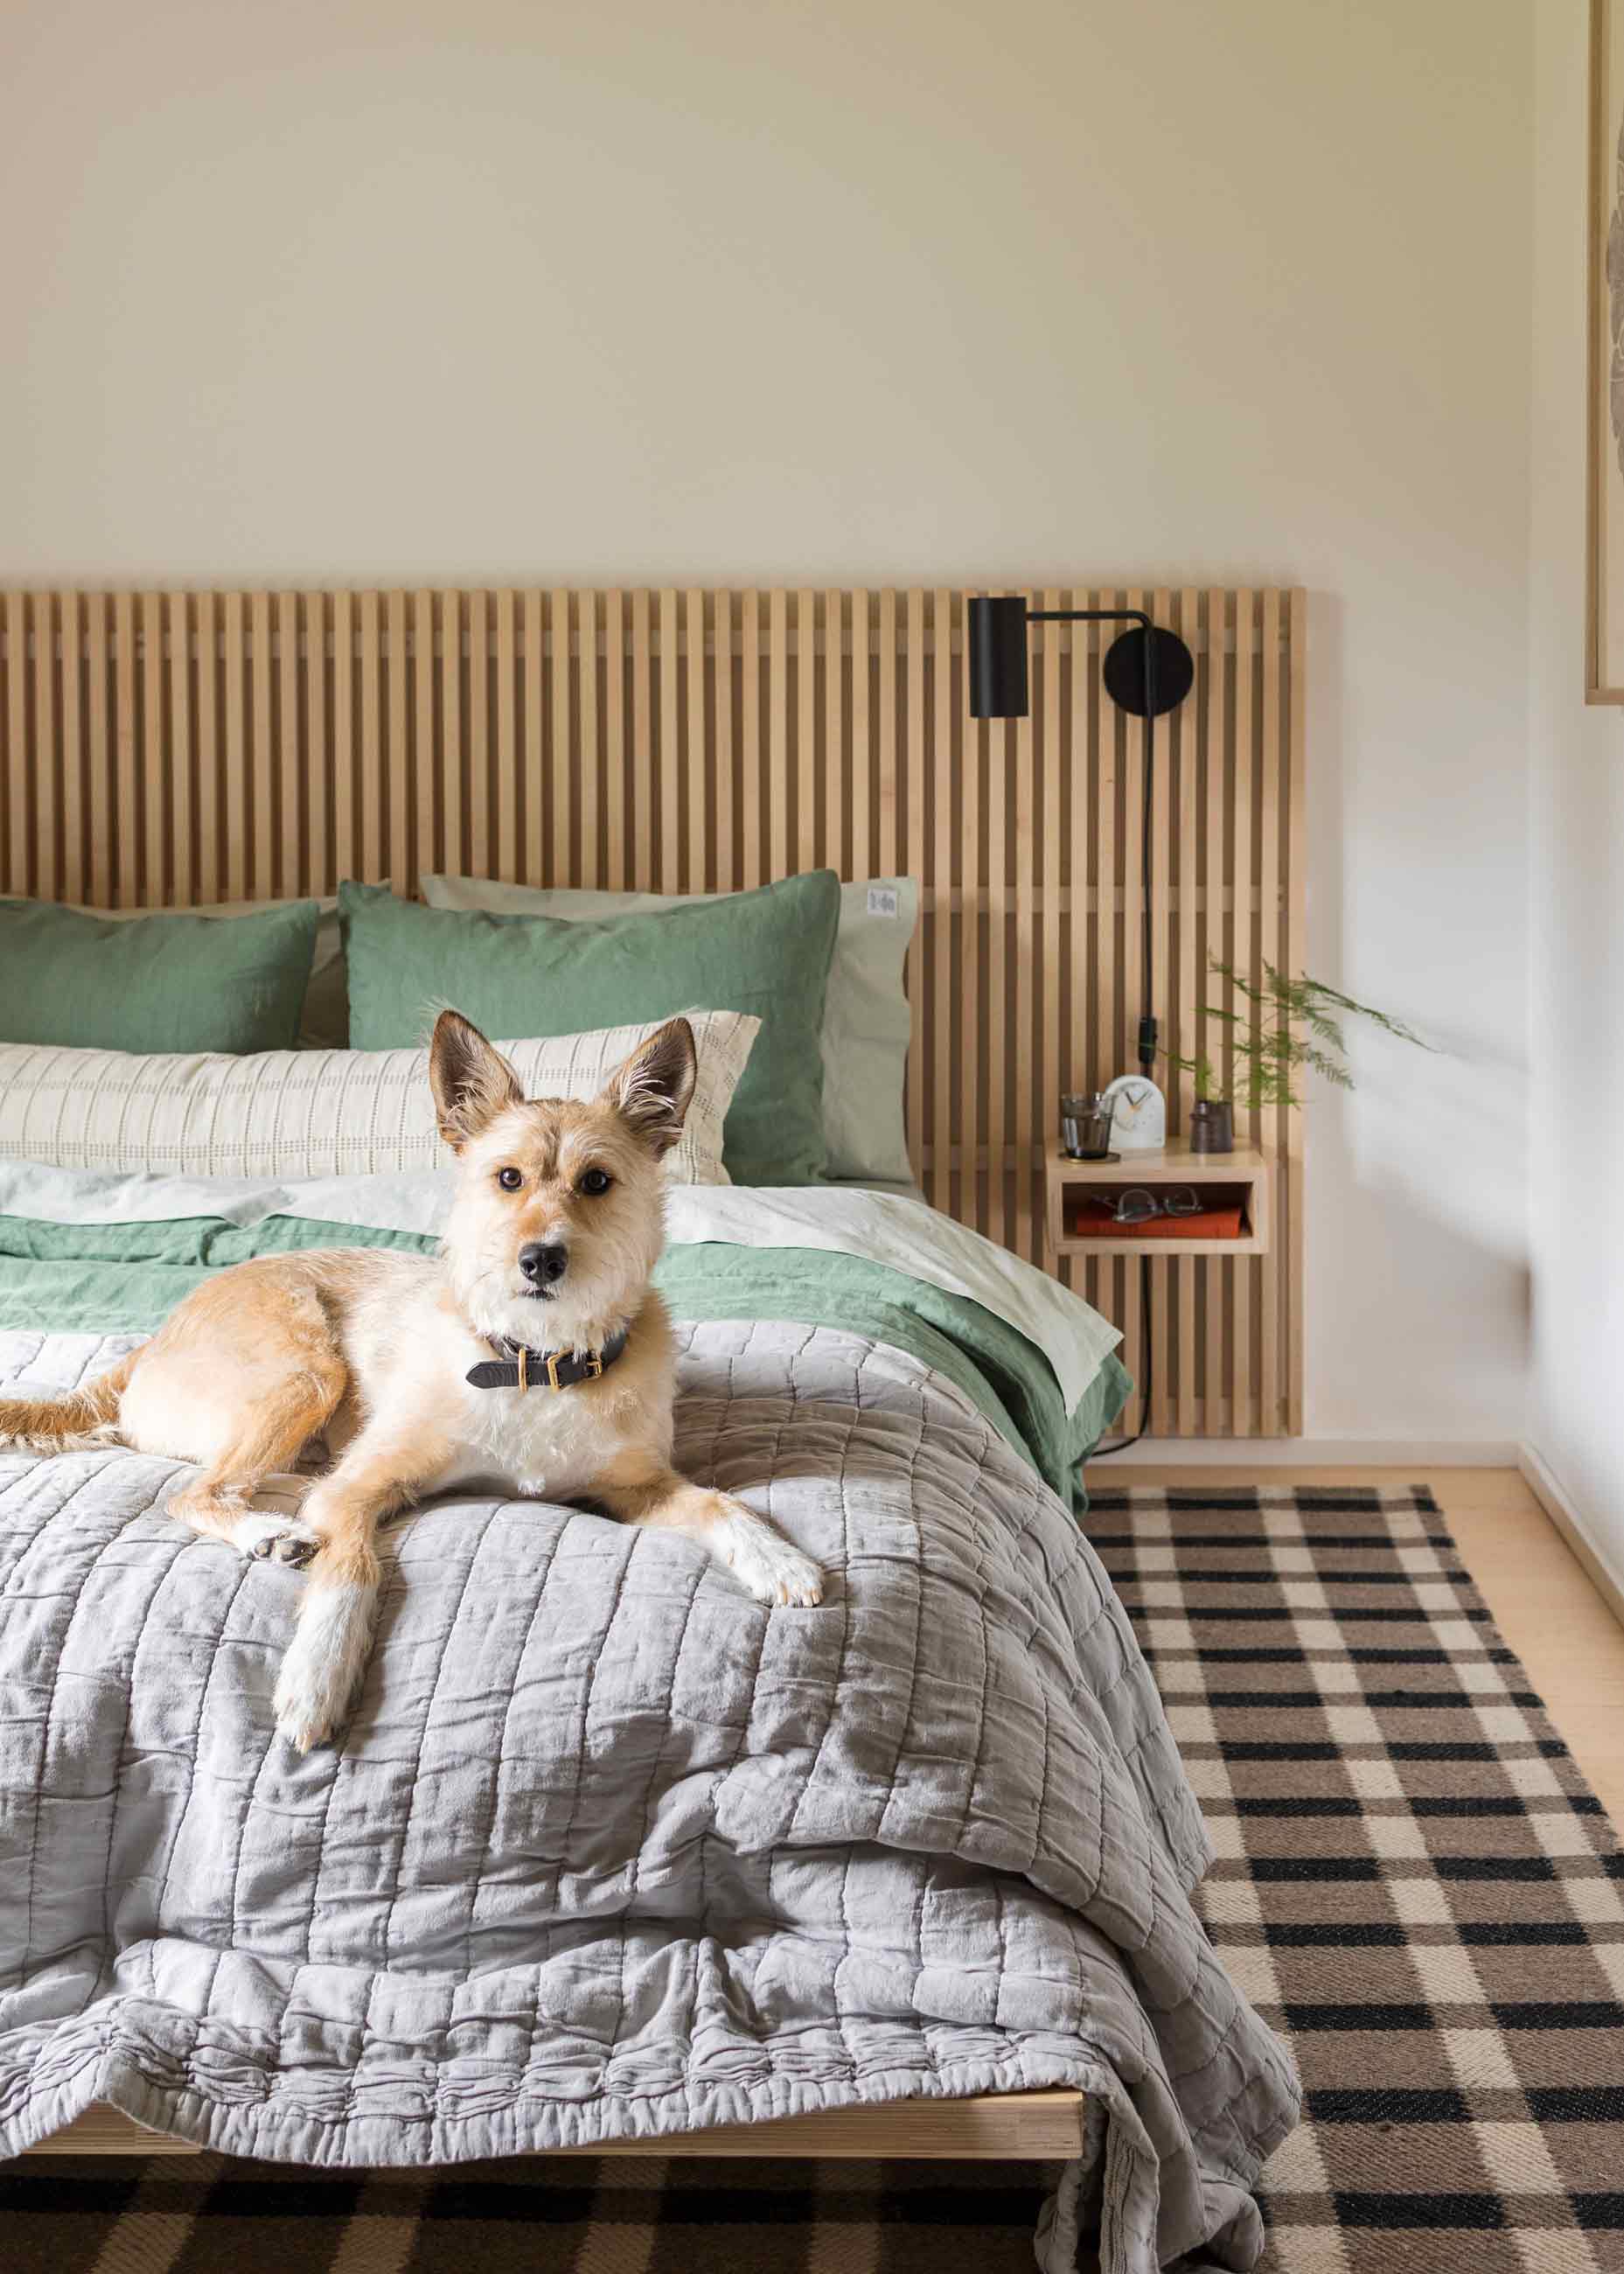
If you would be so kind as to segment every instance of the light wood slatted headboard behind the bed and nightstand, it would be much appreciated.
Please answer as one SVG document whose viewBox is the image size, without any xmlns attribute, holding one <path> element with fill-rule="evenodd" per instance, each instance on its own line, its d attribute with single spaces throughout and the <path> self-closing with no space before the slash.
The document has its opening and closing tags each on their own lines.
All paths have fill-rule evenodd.
<svg viewBox="0 0 1624 2274">
<path fill-rule="evenodd" d="M 1146 607 L 1194 650 L 1158 728 L 1151 905 L 1162 1035 L 1203 1048 L 1208 953 L 1301 966 L 1303 596 L 1042 605 Z M 958 591 L 9 591 L 0 889 L 175 907 L 430 869 L 908 871 L 921 1182 L 1042 1262 L 1055 1101 L 1133 1064 L 1140 1007 L 1144 730 L 1101 689 L 1110 630 L 1037 625 L 1030 719 L 978 725 Z M 1237 1135 L 1287 1160 L 1274 1244 L 1155 1262 L 1158 1435 L 1301 1430 L 1299 1126 Z M 1067 1271 L 1140 1376 L 1137 1262 Z"/>
</svg>

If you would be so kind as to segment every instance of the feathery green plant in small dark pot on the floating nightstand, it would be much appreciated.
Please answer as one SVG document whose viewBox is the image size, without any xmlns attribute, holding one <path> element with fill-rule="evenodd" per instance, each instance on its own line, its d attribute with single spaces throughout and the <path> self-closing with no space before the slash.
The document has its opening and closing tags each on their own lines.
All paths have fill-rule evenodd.
<svg viewBox="0 0 1624 2274">
<path fill-rule="evenodd" d="M 1217 1019 L 1224 1030 L 1217 1064 L 1212 1057 L 1180 1057 L 1167 1051 L 1169 1067 L 1183 1067 L 1194 1076 L 1196 1101 L 1190 1110 L 1192 1153 L 1235 1151 L 1235 1103 L 1249 1112 L 1265 1105 L 1301 1105 L 1294 1078 L 1301 1073 L 1324 1073 L 1337 1089 L 1351 1089 L 1353 1076 L 1344 1062 L 1342 1021 L 1369 1019 L 1399 1041 L 1412 1041 L 1431 1051 L 1428 1041 L 1410 1032 L 1387 1012 L 1356 1003 L 1353 996 L 1326 987 L 1324 980 L 1290 978 L 1274 964 L 1262 966 L 1262 985 L 1249 980 L 1233 964 L 1217 955 L 1212 971 L 1228 980 L 1231 994 L 1240 996 L 1240 1007 L 1224 1003 L 1203 1005 L 1208 1019 Z"/>
</svg>

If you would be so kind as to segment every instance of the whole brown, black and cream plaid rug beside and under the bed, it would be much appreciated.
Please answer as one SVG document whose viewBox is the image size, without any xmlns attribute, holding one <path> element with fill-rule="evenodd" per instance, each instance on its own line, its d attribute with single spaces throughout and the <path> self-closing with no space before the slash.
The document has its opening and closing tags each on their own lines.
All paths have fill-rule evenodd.
<svg viewBox="0 0 1624 2274">
<path fill-rule="evenodd" d="M 1212 1821 L 1201 1908 L 1294 2047 L 1267 2274 L 1624 2269 L 1624 1860 L 1426 1492 L 1101 1489 Z M 0 2178 L 5 2274 L 1028 2274 L 1033 2165 L 221 2156 Z"/>
</svg>

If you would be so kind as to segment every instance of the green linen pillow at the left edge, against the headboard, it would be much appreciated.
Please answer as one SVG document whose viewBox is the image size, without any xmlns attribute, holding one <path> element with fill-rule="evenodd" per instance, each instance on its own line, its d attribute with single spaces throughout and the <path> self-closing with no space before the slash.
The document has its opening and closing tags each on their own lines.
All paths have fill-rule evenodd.
<svg viewBox="0 0 1624 2274">
<path fill-rule="evenodd" d="M 91 916 L 0 901 L 0 1041 L 71 1051 L 291 1051 L 314 901 L 257 916 Z"/>
</svg>

